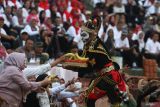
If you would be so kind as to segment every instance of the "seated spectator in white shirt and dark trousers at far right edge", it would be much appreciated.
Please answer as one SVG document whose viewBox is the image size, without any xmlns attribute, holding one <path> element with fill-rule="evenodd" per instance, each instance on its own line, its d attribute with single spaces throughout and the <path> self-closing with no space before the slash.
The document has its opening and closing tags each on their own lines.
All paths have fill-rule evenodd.
<svg viewBox="0 0 160 107">
<path fill-rule="evenodd" d="M 160 64 L 160 43 L 159 34 L 154 32 L 151 39 L 148 39 L 145 46 L 145 57 L 148 59 L 155 59 Z"/>
</svg>

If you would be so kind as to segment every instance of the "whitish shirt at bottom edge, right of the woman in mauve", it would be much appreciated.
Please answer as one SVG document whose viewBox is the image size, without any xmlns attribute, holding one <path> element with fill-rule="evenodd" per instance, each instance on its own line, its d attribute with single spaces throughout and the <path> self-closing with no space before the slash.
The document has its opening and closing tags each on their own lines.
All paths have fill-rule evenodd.
<svg viewBox="0 0 160 107">
<path fill-rule="evenodd" d="M 46 91 L 37 93 L 37 99 L 39 99 L 40 107 L 50 107 L 49 97 Z"/>
</svg>

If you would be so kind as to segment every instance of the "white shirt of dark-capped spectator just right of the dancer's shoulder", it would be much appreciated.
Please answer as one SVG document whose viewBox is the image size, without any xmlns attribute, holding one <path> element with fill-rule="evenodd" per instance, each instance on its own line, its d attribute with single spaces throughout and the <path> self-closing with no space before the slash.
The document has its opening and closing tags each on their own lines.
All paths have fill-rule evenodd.
<svg viewBox="0 0 160 107">
<path fill-rule="evenodd" d="M 129 48 L 129 41 L 128 38 L 125 38 L 122 40 L 121 38 L 115 40 L 115 47 L 116 48 L 121 48 L 121 47 L 126 47 Z"/>
</svg>

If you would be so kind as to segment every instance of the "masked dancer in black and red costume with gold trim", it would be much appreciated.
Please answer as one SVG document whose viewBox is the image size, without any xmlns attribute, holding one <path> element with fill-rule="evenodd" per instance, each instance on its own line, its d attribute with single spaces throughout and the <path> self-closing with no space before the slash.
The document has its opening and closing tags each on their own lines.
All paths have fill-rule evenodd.
<svg viewBox="0 0 160 107">
<path fill-rule="evenodd" d="M 88 68 L 90 67 L 93 73 L 95 71 L 95 77 L 86 90 L 85 101 L 87 107 L 95 107 L 95 101 L 107 95 L 110 103 L 119 107 L 117 105 L 127 100 L 126 86 L 118 72 L 117 64 L 112 61 L 105 45 L 98 37 L 100 26 L 100 17 L 93 17 L 82 26 L 81 36 L 85 42 L 82 57 L 88 58 Z M 81 72 L 85 73 L 84 70 L 79 71 Z"/>
</svg>

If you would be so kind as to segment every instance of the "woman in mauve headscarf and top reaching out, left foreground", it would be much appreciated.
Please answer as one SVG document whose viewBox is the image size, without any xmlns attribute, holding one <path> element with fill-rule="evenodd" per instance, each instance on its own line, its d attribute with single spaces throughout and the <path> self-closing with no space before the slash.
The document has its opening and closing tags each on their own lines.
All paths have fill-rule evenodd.
<svg viewBox="0 0 160 107">
<path fill-rule="evenodd" d="M 27 81 L 22 72 L 25 67 L 23 53 L 11 53 L 5 59 L 5 68 L 0 75 L 1 107 L 19 107 L 29 91 L 36 91 L 51 83 L 48 78 L 41 82 Z"/>
</svg>

